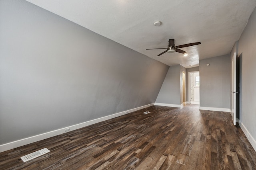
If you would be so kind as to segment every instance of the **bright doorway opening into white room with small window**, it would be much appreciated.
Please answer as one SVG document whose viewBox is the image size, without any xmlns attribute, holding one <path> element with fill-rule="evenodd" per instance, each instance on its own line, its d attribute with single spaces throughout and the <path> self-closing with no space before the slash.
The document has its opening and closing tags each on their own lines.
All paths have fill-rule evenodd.
<svg viewBox="0 0 256 170">
<path fill-rule="evenodd" d="M 188 73 L 188 100 L 190 104 L 200 104 L 200 74 L 198 71 Z"/>
</svg>

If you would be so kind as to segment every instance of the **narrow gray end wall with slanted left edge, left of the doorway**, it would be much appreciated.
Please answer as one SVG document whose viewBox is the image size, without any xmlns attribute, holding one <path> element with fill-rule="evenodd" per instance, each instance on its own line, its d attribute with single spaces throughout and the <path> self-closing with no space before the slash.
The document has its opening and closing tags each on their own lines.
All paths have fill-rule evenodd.
<svg viewBox="0 0 256 170">
<path fill-rule="evenodd" d="M 170 66 L 156 103 L 180 105 L 180 65 Z"/>
</svg>

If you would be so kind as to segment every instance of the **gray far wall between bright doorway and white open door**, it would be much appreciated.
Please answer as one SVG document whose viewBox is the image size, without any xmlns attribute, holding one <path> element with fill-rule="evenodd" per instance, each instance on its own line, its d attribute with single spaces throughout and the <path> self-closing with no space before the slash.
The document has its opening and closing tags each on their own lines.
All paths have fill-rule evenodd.
<svg viewBox="0 0 256 170">
<path fill-rule="evenodd" d="M 200 107 L 230 108 L 230 55 L 200 60 L 199 71 Z"/>
</svg>

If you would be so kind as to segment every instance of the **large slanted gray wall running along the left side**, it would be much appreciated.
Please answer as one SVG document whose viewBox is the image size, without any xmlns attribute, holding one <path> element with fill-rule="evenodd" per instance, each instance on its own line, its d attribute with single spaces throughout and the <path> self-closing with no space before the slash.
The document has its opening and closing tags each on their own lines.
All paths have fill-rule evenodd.
<svg viewBox="0 0 256 170">
<path fill-rule="evenodd" d="M 154 103 L 168 67 L 29 2 L 1 0 L 0 145 Z"/>
</svg>

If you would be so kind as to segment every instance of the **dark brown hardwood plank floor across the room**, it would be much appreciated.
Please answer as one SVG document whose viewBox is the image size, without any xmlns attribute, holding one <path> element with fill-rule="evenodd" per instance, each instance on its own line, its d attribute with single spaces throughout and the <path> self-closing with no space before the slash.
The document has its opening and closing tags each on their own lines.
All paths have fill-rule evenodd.
<svg viewBox="0 0 256 170">
<path fill-rule="evenodd" d="M 45 147 L 47 154 L 20 159 Z M 151 106 L 2 152 L 5 169 L 256 170 L 256 152 L 230 113 Z"/>
</svg>

